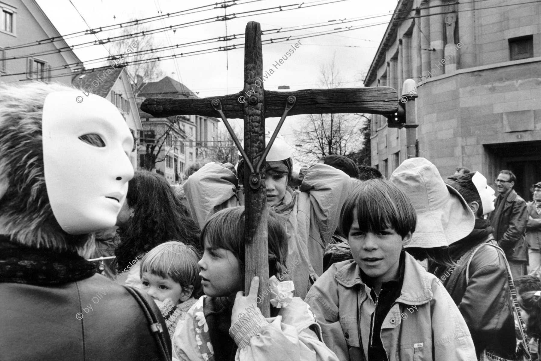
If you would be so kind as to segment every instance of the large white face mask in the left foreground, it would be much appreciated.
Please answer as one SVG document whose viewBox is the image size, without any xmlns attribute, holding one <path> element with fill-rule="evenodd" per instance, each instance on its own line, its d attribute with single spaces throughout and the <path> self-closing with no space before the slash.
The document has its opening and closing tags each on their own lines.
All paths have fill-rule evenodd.
<svg viewBox="0 0 541 361">
<path fill-rule="evenodd" d="M 80 91 L 56 91 L 43 104 L 43 163 L 52 213 L 69 234 L 113 227 L 134 169 L 133 137 L 116 107 Z M 79 139 L 97 134 L 104 147 Z"/>
</svg>

